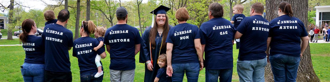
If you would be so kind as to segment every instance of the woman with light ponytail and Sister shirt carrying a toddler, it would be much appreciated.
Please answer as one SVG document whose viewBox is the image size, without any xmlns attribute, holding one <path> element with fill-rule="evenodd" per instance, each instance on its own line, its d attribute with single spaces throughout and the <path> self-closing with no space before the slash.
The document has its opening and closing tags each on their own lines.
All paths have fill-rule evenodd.
<svg viewBox="0 0 330 82">
<path fill-rule="evenodd" d="M 98 72 L 95 64 L 95 56 L 99 54 L 103 59 L 106 57 L 104 47 L 101 47 L 97 51 L 93 50 L 100 44 L 95 38 L 89 37 L 90 34 L 94 33 L 95 29 L 96 26 L 93 21 L 82 21 L 79 31 L 81 37 L 73 42 L 72 56 L 78 58 L 81 82 L 102 82 L 103 80 L 103 75 L 94 77 Z M 101 68 L 103 70 L 102 66 Z"/>
</svg>

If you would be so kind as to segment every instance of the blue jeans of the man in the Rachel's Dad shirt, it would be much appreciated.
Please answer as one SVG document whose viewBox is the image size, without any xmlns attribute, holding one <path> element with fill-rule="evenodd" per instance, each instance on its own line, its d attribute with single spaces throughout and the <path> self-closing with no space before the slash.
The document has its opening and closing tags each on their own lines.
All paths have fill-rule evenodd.
<svg viewBox="0 0 330 82">
<path fill-rule="evenodd" d="M 207 70 L 205 72 L 205 82 L 231 82 L 233 69 Z"/>
</svg>

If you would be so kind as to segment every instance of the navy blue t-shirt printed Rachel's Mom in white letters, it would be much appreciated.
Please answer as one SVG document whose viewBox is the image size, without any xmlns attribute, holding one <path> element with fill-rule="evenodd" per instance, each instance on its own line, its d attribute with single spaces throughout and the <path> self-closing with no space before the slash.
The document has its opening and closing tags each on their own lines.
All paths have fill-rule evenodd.
<svg viewBox="0 0 330 82">
<path fill-rule="evenodd" d="M 198 63 L 194 39 L 201 38 L 196 25 L 182 23 L 170 29 L 166 43 L 173 44 L 172 64 Z"/>
</svg>

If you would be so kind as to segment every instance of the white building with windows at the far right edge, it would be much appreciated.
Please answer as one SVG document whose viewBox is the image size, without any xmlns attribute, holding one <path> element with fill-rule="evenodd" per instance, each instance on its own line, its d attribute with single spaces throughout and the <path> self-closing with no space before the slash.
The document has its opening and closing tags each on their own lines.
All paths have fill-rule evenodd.
<svg viewBox="0 0 330 82">
<path fill-rule="evenodd" d="M 315 6 L 316 9 L 316 26 L 322 28 L 325 23 L 330 23 L 330 6 Z"/>
</svg>

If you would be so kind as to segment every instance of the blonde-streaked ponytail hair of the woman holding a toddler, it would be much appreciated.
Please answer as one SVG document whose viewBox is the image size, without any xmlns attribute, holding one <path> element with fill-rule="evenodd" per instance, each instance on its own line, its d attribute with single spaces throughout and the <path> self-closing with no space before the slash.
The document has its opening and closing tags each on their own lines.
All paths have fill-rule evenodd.
<svg viewBox="0 0 330 82">
<path fill-rule="evenodd" d="M 84 22 L 82 24 L 84 32 L 89 36 L 89 34 L 94 33 L 96 26 L 93 21 L 89 20 L 88 22 Z M 82 27 L 81 26 L 81 27 Z"/>
</svg>

